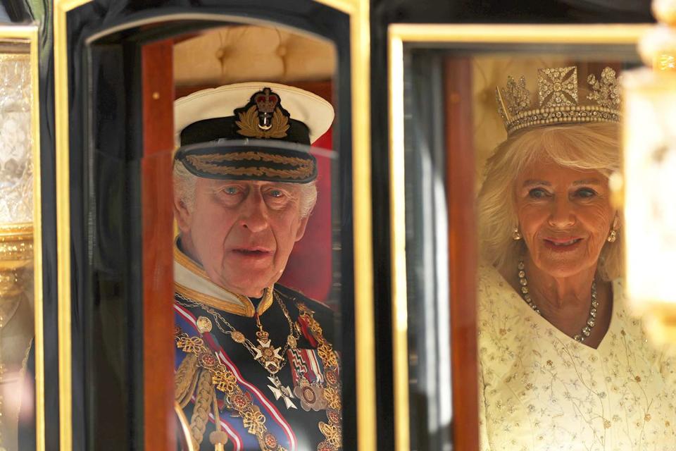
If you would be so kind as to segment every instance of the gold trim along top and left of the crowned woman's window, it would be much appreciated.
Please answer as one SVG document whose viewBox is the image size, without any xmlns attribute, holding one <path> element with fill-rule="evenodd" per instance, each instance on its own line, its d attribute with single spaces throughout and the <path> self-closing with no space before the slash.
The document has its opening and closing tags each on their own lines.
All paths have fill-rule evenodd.
<svg viewBox="0 0 676 451">
<path fill-rule="evenodd" d="M 394 430 L 396 451 L 410 449 L 408 323 L 406 299 L 406 202 L 404 171 L 404 54 L 406 44 L 603 44 L 635 46 L 650 25 L 456 25 L 392 24 L 389 44 L 389 186 L 392 226 L 392 318 L 394 359 Z M 506 104 L 506 99 L 502 99 Z M 505 110 L 508 113 L 508 109 Z M 357 363 L 359 364 L 359 362 Z M 361 372 L 361 371 L 360 371 Z M 457 426 L 457 425 L 456 425 Z"/>
</svg>

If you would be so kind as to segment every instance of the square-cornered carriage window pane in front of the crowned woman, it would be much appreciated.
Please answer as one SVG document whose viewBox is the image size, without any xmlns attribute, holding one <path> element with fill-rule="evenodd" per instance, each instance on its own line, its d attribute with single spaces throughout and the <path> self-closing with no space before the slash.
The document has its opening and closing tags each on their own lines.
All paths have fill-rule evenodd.
<svg viewBox="0 0 676 451">
<path fill-rule="evenodd" d="M 452 449 L 458 425 L 475 444 L 529 450 L 612 428 L 668 443 L 666 394 L 646 383 L 668 374 L 618 358 L 618 347 L 641 362 L 657 352 L 622 297 L 622 211 L 608 187 L 621 171 L 618 79 L 637 65 L 625 44 L 404 44 L 411 449 Z M 558 321 L 572 307 L 547 291 L 558 280 L 570 299 L 564 276 L 586 287 L 572 321 Z M 620 392 L 642 389 L 640 412 L 620 408 Z M 458 410 L 465 390 L 478 421 Z"/>
</svg>

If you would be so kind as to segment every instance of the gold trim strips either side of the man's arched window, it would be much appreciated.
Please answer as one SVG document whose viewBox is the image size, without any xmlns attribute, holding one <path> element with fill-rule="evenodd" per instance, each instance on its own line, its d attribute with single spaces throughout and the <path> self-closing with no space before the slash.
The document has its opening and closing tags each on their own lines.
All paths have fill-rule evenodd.
<svg viewBox="0 0 676 451">
<path fill-rule="evenodd" d="M 356 334 L 356 362 L 360 369 L 360 377 L 356 383 L 357 430 L 359 451 L 377 449 L 376 415 L 375 415 L 375 334 L 373 309 L 373 237 L 371 214 L 371 165 L 370 165 L 370 32 L 368 0 L 315 0 L 330 8 L 342 11 L 350 17 L 350 64 L 351 64 L 351 123 L 352 135 L 352 179 L 354 192 L 361 193 L 353 199 L 353 232 L 354 249 L 360 249 L 354 261 L 354 302 Z M 59 378 L 59 390 L 68 400 L 68 404 L 60 404 L 59 431 L 61 434 L 61 450 L 72 448 L 72 415 L 70 405 L 70 362 L 68 347 L 70 338 L 70 254 L 68 244 L 68 47 L 67 47 L 67 13 L 78 6 L 90 4 L 92 0 L 55 0 L 54 2 L 54 89 L 56 92 L 56 148 L 57 148 L 57 192 L 59 235 L 59 366 L 66 377 Z M 154 16 L 108 27 L 106 30 L 89 36 L 87 42 L 111 35 L 113 32 L 126 30 L 144 24 L 157 23 L 159 20 L 186 18 L 194 20 L 230 20 L 242 21 L 241 16 L 228 16 L 215 13 L 178 13 L 165 16 Z M 258 23 L 255 18 L 246 18 L 247 23 Z M 604 27 L 607 29 L 607 27 Z M 622 32 L 626 31 L 623 28 Z M 63 269 L 63 271 L 61 271 Z M 68 286 L 62 287 L 62 282 Z M 62 354 L 63 351 L 64 353 Z M 184 422 L 182 421 L 182 425 Z M 192 445 L 192 444 L 190 444 Z"/>
</svg>

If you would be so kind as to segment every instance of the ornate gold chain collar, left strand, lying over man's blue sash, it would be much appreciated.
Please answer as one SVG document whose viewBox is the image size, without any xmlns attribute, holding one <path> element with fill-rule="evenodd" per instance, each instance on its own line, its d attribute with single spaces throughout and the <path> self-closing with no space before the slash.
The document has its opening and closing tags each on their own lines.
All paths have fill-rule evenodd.
<svg viewBox="0 0 676 451">
<path fill-rule="evenodd" d="M 211 383 L 216 390 L 225 394 L 226 407 L 242 418 L 246 431 L 256 436 L 261 450 L 286 451 L 279 445 L 279 440 L 270 437 L 272 434 L 265 427 L 265 416 L 261 409 L 239 388 L 237 377 L 204 345 L 204 340 L 179 332 L 176 335 L 176 346 L 188 354 L 196 355 L 200 368 L 211 373 Z"/>
</svg>

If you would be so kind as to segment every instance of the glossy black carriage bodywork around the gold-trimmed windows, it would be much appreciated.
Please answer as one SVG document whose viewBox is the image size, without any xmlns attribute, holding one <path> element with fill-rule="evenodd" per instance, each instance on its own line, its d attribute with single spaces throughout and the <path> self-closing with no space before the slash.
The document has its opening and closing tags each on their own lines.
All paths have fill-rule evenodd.
<svg viewBox="0 0 676 451">
<path fill-rule="evenodd" d="M 56 127 L 52 1 L 4 0 L 15 23 L 41 23 L 39 54 L 44 274 L 46 449 L 59 447 Z M 647 2 L 372 0 L 370 105 L 379 449 L 394 449 L 390 299 L 387 26 L 392 23 L 637 23 Z M 627 4 L 629 4 L 627 2 Z M 203 15 L 194 18 L 194 15 Z M 189 16 L 192 18 L 186 19 Z M 208 16 L 208 18 L 207 18 Z M 72 287 L 73 450 L 142 449 L 143 412 L 139 61 L 144 44 L 227 20 L 263 20 L 330 39 L 337 48 L 343 273 L 342 321 L 353 323 L 349 17 L 311 0 L 100 0 L 68 13 L 68 115 Z M 117 31 L 115 31 L 117 30 Z M 100 36 L 95 38 L 96 36 Z M 92 40 L 92 38 L 95 38 Z M 342 340 L 344 400 L 353 400 L 353 335 Z M 344 443 L 356 443 L 356 408 L 345 402 Z M 32 431 L 23 434 L 32 442 Z"/>
</svg>

